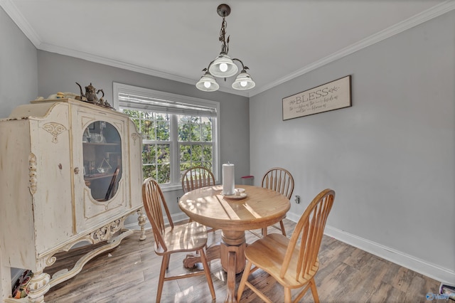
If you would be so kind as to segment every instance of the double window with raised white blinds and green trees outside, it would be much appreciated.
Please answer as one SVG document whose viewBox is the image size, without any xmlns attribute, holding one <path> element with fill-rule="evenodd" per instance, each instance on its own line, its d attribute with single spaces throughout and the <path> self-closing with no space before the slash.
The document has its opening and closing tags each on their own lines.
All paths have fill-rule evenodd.
<svg viewBox="0 0 455 303">
<path fill-rule="evenodd" d="M 114 83 L 114 107 L 142 134 L 144 179 L 181 188 L 186 169 L 205 166 L 218 180 L 218 102 Z"/>
</svg>

